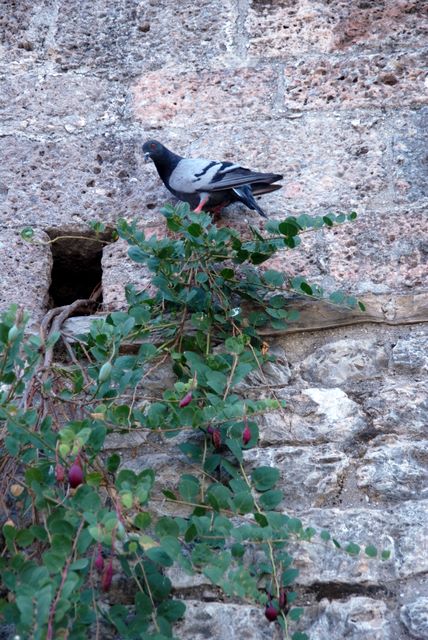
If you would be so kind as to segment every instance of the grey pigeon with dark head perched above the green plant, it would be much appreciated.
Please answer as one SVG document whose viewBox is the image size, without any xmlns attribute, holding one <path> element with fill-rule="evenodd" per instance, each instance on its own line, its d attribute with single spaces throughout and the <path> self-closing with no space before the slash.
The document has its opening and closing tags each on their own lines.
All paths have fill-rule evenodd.
<svg viewBox="0 0 428 640">
<path fill-rule="evenodd" d="M 232 202 L 242 202 L 267 218 L 254 196 L 282 187 L 272 184 L 282 179 L 278 173 L 259 173 L 233 162 L 182 158 L 157 140 L 147 140 L 143 152 L 146 162 L 155 163 L 166 188 L 198 213 L 203 210 L 218 213 Z"/>
</svg>

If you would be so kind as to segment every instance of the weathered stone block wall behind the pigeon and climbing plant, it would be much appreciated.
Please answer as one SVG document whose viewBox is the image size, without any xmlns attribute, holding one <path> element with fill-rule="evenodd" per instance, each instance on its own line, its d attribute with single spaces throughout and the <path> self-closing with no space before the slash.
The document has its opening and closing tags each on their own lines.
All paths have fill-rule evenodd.
<svg viewBox="0 0 428 640">
<path fill-rule="evenodd" d="M 320 322 L 309 309 L 271 338 L 265 375 L 288 409 L 247 454 L 281 468 L 285 509 L 393 550 L 377 563 L 305 549 L 312 640 L 428 638 L 427 31 L 424 0 L 0 1 L 2 308 L 24 302 L 36 322 L 49 304 L 50 248 L 25 245 L 23 226 L 46 240 L 125 216 L 162 233 L 169 194 L 143 164 L 149 136 L 283 173 L 263 199 L 272 217 L 359 213 L 271 265 L 374 311 Z M 238 207 L 223 223 L 248 221 L 260 222 Z M 109 245 L 107 309 L 131 280 L 146 275 Z M 164 477 L 170 455 L 152 457 Z M 132 464 L 146 459 L 139 443 Z M 174 583 L 188 601 L 179 637 L 275 637 L 260 610 Z"/>
</svg>

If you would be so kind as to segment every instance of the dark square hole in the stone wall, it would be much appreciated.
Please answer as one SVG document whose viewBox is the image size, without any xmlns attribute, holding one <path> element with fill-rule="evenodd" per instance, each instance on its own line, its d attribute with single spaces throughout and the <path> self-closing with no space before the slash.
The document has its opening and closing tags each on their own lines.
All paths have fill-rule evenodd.
<svg viewBox="0 0 428 640">
<path fill-rule="evenodd" d="M 91 296 L 101 303 L 102 252 L 105 243 L 113 241 L 113 232 L 107 230 L 96 235 L 86 230 L 48 229 L 46 233 L 51 240 L 59 238 L 51 244 L 49 307 L 62 307 Z"/>
</svg>

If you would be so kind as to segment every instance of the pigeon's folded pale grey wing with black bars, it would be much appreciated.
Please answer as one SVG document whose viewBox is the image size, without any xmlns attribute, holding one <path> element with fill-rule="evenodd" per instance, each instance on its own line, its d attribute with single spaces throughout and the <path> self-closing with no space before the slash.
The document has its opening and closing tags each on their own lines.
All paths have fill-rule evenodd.
<svg viewBox="0 0 428 640">
<path fill-rule="evenodd" d="M 181 193 L 224 191 L 246 184 L 269 184 L 281 180 L 276 173 L 259 173 L 231 162 L 205 158 L 181 160 L 169 177 L 169 186 Z"/>
</svg>

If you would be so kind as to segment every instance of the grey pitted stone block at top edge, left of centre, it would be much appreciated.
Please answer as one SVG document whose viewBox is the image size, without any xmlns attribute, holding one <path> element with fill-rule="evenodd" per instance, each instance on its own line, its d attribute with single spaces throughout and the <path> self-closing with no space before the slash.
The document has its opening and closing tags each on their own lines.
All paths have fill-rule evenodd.
<svg viewBox="0 0 428 640">
<path fill-rule="evenodd" d="M 61 1 L 50 55 L 63 70 L 83 67 L 113 80 L 178 61 L 184 67 L 221 65 L 235 19 L 230 0 Z"/>
</svg>

